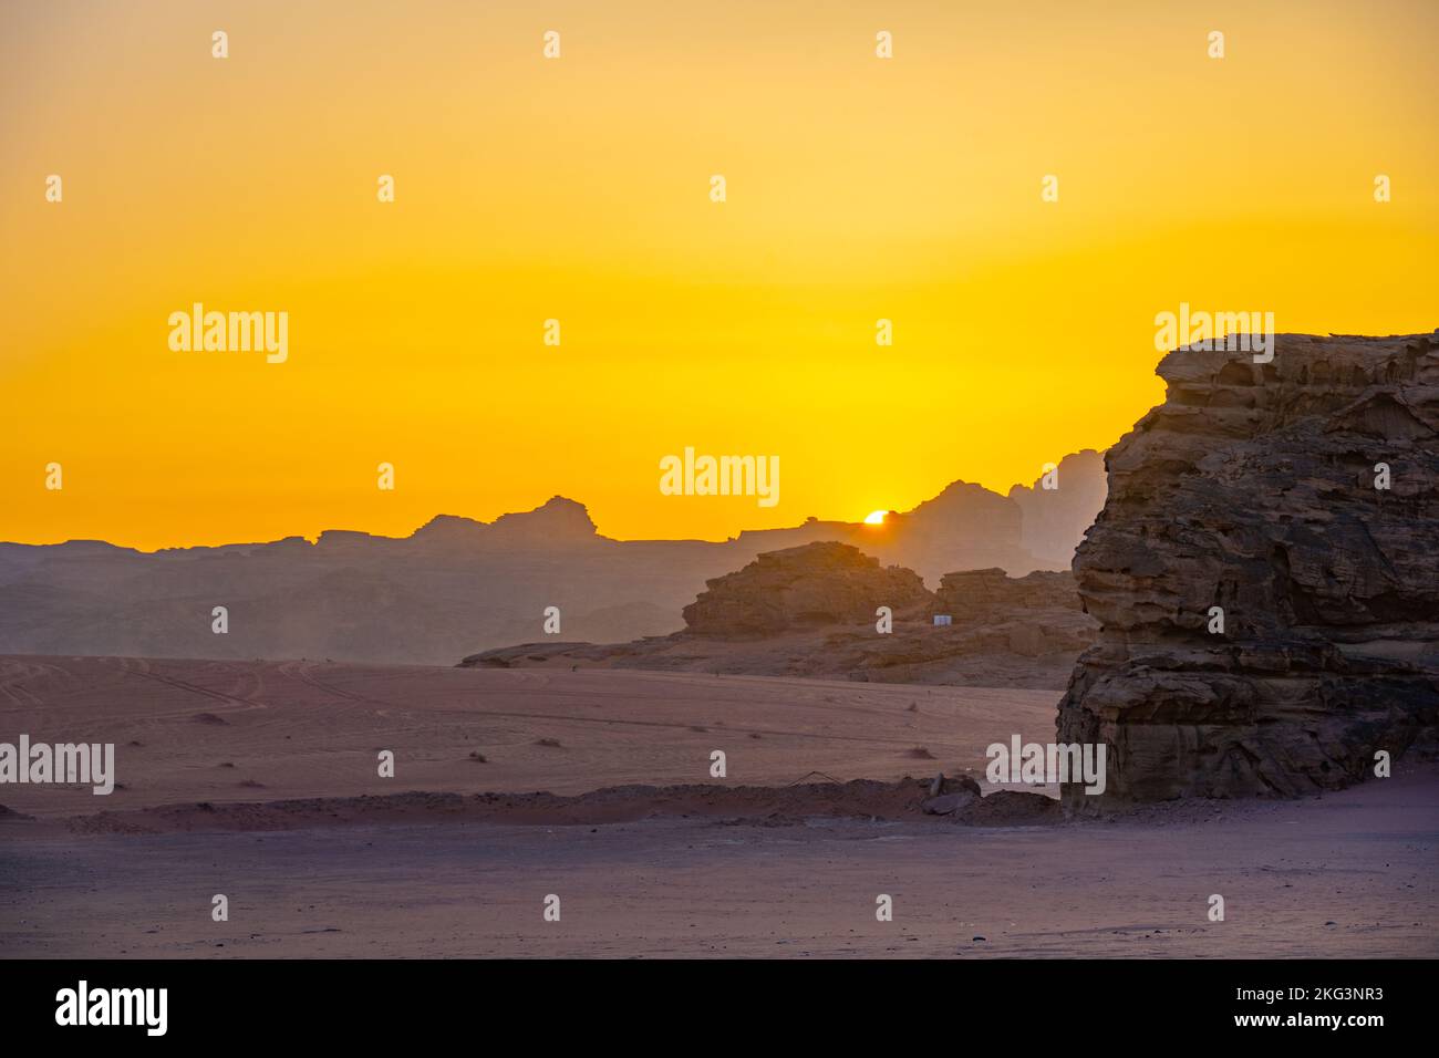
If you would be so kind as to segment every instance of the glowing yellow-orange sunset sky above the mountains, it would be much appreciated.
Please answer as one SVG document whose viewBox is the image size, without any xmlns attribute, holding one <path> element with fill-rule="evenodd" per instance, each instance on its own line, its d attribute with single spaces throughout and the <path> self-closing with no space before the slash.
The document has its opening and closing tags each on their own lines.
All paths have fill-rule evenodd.
<svg viewBox="0 0 1439 1058">
<path fill-rule="evenodd" d="M 722 538 L 1033 481 L 1163 397 L 1181 301 L 1439 325 L 1436 45 L 1429 0 L 6 0 L 0 540 L 555 492 Z M 288 361 L 171 351 L 196 301 L 288 312 Z M 686 445 L 780 502 L 662 495 Z"/>
</svg>

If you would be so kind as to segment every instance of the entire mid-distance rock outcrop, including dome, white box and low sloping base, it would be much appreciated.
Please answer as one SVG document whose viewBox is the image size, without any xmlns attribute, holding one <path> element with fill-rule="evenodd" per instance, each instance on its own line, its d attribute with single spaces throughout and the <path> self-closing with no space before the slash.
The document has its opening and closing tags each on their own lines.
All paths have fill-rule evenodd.
<svg viewBox="0 0 1439 1058">
<path fill-rule="evenodd" d="M 894 629 L 875 628 L 876 606 Z M 935 626 L 935 613 L 954 623 Z M 632 643 L 522 643 L 460 665 L 643 668 L 790 675 L 889 684 L 1061 688 L 1098 623 L 1079 609 L 1073 576 L 948 573 L 938 596 L 904 569 L 853 547 L 767 553 L 715 577 L 685 609 L 688 628 Z"/>
</svg>

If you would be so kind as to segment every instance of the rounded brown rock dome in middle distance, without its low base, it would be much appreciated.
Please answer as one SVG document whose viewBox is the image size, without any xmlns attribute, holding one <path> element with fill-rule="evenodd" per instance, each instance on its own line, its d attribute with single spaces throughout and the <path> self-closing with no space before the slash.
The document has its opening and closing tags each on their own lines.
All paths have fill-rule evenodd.
<svg viewBox="0 0 1439 1058">
<path fill-rule="evenodd" d="M 884 569 L 858 547 L 836 543 L 768 551 L 705 584 L 709 590 L 684 612 L 695 635 L 766 635 L 873 622 L 879 606 L 898 616 L 934 599 L 914 571 Z"/>
</svg>

